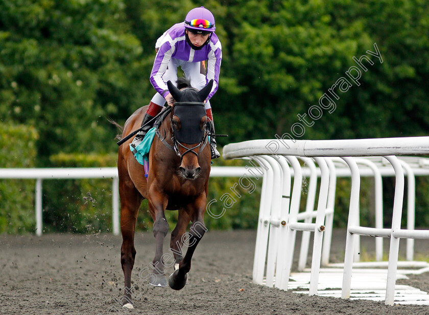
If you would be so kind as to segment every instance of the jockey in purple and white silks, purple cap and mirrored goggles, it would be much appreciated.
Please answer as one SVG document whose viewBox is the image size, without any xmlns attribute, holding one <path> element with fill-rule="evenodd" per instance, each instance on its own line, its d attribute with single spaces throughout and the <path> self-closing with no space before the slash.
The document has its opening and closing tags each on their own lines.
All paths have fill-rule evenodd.
<svg viewBox="0 0 429 315">
<path fill-rule="evenodd" d="M 214 34 L 213 14 L 204 7 L 195 8 L 188 12 L 185 21 L 173 25 L 156 41 L 156 57 L 151 73 L 151 83 L 156 89 L 156 94 L 149 103 L 146 115 L 141 125 L 149 122 L 162 109 L 165 101 L 172 105 L 171 96 L 167 84 L 171 80 L 177 81 L 177 68 L 180 65 L 185 77 L 190 84 L 197 88 L 203 88 L 208 81 L 213 79 L 213 87 L 205 100 L 205 110 L 211 133 L 214 134 L 213 116 L 209 99 L 216 93 L 219 82 L 219 72 L 222 61 L 222 46 L 218 36 Z M 207 75 L 202 74 L 202 62 L 208 60 Z M 205 72 L 205 71 L 204 71 Z M 145 137 L 146 132 L 152 126 L 148 124 L 139 131 L 131 144 L 133 147 Z M 211 158 L 219 158 L 220 153 L 216 149 L 216 140 L 210 137 Z"/>
</svg>

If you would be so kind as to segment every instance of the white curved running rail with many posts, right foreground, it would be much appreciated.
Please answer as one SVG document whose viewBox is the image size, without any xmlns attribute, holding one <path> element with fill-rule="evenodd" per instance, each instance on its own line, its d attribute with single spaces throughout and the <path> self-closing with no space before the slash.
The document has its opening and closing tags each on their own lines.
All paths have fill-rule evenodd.
<svg viewBox="0 0 429 315">
<path fill-rule="evenodd" d="M 342 297 L 350 295 L 350 281 L 353 256 L 359 251 L 359 236 L 370 235 L 390 237 L 388 280 L 385 303 L 393 305 L 398 250 L 400 238 L 429 238 L 429 230 L 414 230 L 414 196 L 416 175 L 429 175 L 428 159 L 401 158 L 395 155 L 429 154 L 429 137 L 356 139 L 356 140 L 253 140 L 232 143 L 224 147 L 224 159 L 253 159 L 265 169 L 260 200 L 259 222 L 256 236 L 253 282 L 264 283 L 265 265 L 267 286 L 287 290 L 295 247 L 296 231 L 315 233 L 311 266 L 309 295 L 317 294 L 321 261 L 328 262 L 330 233 L 332 229 L 333 201 L 337 176 L 351 176 L 352 187 L 347 227 L 347 240 L 344 260 Z M 361 157 L 371 158 L 361 158 Z M 372 156 L 375 156 L 372 158 Z M 384 158 L 381 158 L 384 156 Z M 359 157 L 359 158 L 358 158 Z M 304 169 L 298 162 L 303 160 L 308 166 L 306 176 L 310 176 L 306 211 L 299 212 L 301 184 Z M 318 167 L 308 158 L 313 158 Z M 388 163 L 383 162 L 388 161 Z M 285 163 L 291 165 L 291 169 Z M 389 163 L 392 165 L 388 166 Z M 361 167 L 358 167 L 358 164 Z M 345 169 L 345 165 L 349 170 Z M 288 170 L 287 170 L 288 169 Z M 313 211 L 315 188 L 314 174 L 320 176 L 317 210 Z M 402 198 L 404 193 L 404 173 L 408 176 L 408 224 L 400 229 Z M 294 178 L 292 193 L 291 175 Z M 396 177 L 392 225 L 383 229 L 382 176 Z M 313 177 L 312 177 L 313 176 Z M 360 177 L 373 176 L 376 191 L 375 228 L 361 227 L 359 224 Z M 288 201 L 288 202 L 287 202 Z M 290 201 L 290 202 L 289 202 Z M 326 216 L 326 218 L 325 218 Z M 316 217 L 315 223 L 312 222 Z M 303 220 L 304 222 L 299 222 Z M 326 219 L 326 220 L 325 220 Z M 323 242 L 325 224 L 329 231 Z M 325 232 L 326 233 L 326 232 Z M 305 240 L 309 239 L 305 236 Z M 307 243 L 307 241 L 305 241 Z M 413 248 L 408 242 L 407 259 L 412 259 Z M 326 247 L 328 247 L 326 249 Z M 382 243 L 376 241 L 376 259 L 383 255 Z M 299 259 L 299 269 L 305 267 L 308 245 L 303 244 Z M 304 257 L 305 256 L 305 257 Z"/>
</svg>

